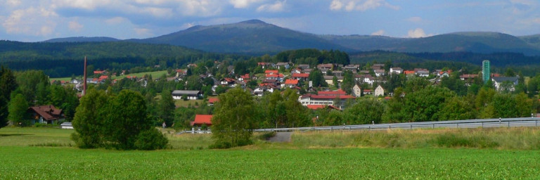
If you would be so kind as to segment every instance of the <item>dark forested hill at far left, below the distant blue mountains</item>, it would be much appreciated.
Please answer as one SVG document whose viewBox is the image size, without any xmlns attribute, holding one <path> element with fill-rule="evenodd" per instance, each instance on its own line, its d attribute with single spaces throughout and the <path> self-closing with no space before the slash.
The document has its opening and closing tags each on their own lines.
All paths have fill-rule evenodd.
<svg viewBox="0 0 540 180">
<path fill-rule="evenodd" d="M 0 63 L 36 59 L 121 58 L 121 57 L 176 57 L 202 54 L 202 51 L 165 44 L 132 42 L 58 42 L 25 43 L 0 41 Z"/>
</svg>

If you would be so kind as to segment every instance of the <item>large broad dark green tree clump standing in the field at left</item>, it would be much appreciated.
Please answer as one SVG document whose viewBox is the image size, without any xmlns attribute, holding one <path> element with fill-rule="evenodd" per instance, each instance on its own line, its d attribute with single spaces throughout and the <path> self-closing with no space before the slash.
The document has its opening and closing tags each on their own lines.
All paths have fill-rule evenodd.
<svg viewBox="0 0 540 180">
<path fill-rule="evenodd" d="M 155 135 L 153 121 L 148 118 L 145 98 L 135 91 L 122 90 L 116 96 L 90 90 L 81 98 L 73 127 L 72 139 L 79 148 L 136 148 L 165 147 L 167 141 Z M 151 135 L 141 137 L 141 132 Z M 162 136 L 162 134 L 161 134 Z M 155 142 L 145 142 L 156 140 Z M 136 145 L 136 141 L 139 141 Z"/>
</svg>

